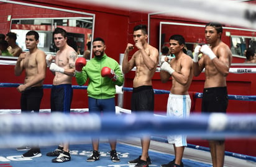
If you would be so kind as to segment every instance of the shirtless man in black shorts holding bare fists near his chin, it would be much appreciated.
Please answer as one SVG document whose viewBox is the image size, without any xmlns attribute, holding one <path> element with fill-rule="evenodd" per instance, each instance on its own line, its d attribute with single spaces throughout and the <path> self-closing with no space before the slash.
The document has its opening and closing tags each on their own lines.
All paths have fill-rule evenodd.
<svg viewBox="0 0 256 167">
<path fill-rule="evenodd" d="M 154 93 L 152 87 L 152 77 L 158 64 L 158 50 L 147 43 L 146 25 L 137 25 L 134 27 L 135 45 L 127 44 L 122 61 L 122 72 L 126 74 L 133 67 L 136 67 L 132 90 L 131 109 L 132 112 L 152 111 L 154 109 Z M 128 54 L 134 48 L 139 50 L 134 53 L 128 61 Z M 129 161 L 129 164 L 136 164 L 135 167 L 149 166 L 150 138 L 141 139 L 142 155 L 139 158 Z"/>
</svg>

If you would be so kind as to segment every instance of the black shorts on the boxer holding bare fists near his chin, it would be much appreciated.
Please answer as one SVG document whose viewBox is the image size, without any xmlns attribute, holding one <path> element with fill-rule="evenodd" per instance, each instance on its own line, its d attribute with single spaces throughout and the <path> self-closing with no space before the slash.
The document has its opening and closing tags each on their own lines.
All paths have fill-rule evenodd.
<svg viewBox="0 0 256 167">
<path fill-rule="evenodd" d="M 154 92 L 152 86 L 141 86 L 132 90 L 132 111 L 152 112 L 154 109 Z"/>
</svg>

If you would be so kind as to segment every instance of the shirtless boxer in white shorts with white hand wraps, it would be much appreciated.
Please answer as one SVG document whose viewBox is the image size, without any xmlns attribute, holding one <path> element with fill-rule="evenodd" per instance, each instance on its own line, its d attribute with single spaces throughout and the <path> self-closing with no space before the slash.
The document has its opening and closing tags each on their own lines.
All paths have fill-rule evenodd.
<svg viewBox="0 0 256 167">
<path fill-rule="evenodd" d="M 160 77 L 163 83 L 172 77 L 171 92 L 167 103 L 167 116 L 187 118 L 190 116 L 191 99 L 188 89 L 193 79 L 193 61 L 190 56 L 183 52 L 185 39 L 181 35 L 170 37 L 170 51 L 175 54 L 170 64 L 163 62 L 160 67 Z M 172 143 L 175 159 L 162 167 L 183 167 L 181 162 L 186 143 L 185 135 L 168 135 L 168 143 Z"/>
</svg>

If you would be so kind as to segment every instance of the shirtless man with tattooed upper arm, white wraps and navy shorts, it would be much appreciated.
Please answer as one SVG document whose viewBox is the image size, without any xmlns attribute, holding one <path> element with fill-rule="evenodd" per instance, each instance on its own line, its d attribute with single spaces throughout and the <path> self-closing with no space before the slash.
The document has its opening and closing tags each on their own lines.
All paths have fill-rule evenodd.
<svg viewBox="0 0 256 167">
<path fill-rule="evenodd" d="M 54 43 L 59 48 L 56 56 L 47 55 L 47 65 L 55 75 L 51 92 L 51 111 L 61 111 L 70 113 L 73 89 L 71 79 L 75 74 L 76 51 L 66 42 L 66 31 L 63 28 L 55 28 L 53 32 Z M 55 59 L 55 62 L 52 62 Z M 61 143 L 53 152 L 47 156 L 57 156 L 52 160 L 53 163 L 70 161 L 69 143 Z"/>
</svg>

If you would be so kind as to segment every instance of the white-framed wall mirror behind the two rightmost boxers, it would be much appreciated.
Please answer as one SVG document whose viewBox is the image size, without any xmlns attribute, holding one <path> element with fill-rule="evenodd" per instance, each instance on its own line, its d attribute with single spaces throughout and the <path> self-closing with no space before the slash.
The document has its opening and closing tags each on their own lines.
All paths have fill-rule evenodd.
<svg viewBox="0 0 256 167">
<path fill-rule="evenodd" d="M 159 49 L 168 45 L 170 35 L 181 34 L 185 37 L 186 48 L 193 51 L 196 45 L 206 44 L 204 27 L 205 25 L 199 24 L 160 22 Z M 221 40 L 230 46 L 233 56 L 245 58 L 245 49 L 253 48 L 256 50 L 256 37 L 254 35 L 256 30 L 223 27 L 223 32 Z"/>
</svg>

